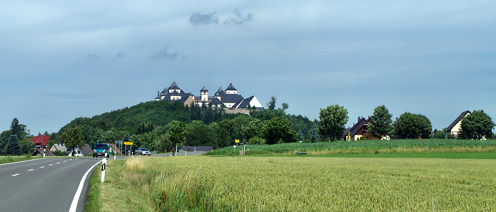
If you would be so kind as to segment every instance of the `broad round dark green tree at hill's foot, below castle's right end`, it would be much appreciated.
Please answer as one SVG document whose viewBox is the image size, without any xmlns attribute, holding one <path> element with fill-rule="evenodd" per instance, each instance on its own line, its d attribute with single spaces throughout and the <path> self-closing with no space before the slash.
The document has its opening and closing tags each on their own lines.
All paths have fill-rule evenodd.
<svg viewBox="0 0 496 212">
<path fill-rule="evenodd" d="M 265 121 L 261 130 L 261 135 L 267 144 L 297 141 L 296 132 L 295 129 L 293 129 L 291 122 L 282 117 L 275 117 Z"/>
</svg>

